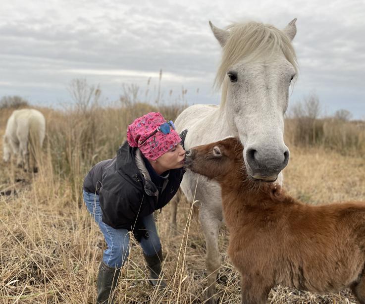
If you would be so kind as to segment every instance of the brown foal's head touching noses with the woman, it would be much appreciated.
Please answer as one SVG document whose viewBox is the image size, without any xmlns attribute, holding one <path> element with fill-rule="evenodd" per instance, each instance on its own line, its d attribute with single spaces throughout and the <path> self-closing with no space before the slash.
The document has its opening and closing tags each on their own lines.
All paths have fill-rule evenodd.
<svg viewBox="0 0 365 304">
<path fill-rule="evenodd" d="M 237 172 L 246 175 L 242 162 L 243 147 L 239 139 L 229 137 L 219 142 L 197 146 L 185 154 L 185 167 L 193 172 L 218 181 Z"/>
</svg>

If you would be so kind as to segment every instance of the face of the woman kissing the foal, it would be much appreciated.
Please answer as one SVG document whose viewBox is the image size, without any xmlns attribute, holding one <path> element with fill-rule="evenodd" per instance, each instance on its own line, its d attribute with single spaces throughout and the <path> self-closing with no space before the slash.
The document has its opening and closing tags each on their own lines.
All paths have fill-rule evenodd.
<svg viewBox="0 0 365 304">
<path fill-rule="evenodd" d="M 153 163 L 157 174 L 162 174 L 163 172 L 171 169 L 178 169 L 184 166 L 185 150 L 181 144 L 176 145 L 173 149 L 162 154 Z"/>
</svg>

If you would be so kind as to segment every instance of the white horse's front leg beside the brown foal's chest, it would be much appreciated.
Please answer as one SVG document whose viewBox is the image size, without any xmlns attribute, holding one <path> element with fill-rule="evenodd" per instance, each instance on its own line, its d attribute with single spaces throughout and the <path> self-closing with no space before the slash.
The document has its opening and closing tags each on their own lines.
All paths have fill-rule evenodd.
<svg viewBox="0 0 365 304">
<path fill-rule="evenodd" d="M 206 267 L 208 276 L 208 290 L 206 299 L 208 304 L 215 303 L 215 281 L 221 265 L 219 250 L 218 250 L 218 232 L 221 225 L 221 219 L 214 214 L 214 211 L 209 210 L 205 204 L 201 204 L 199 212 L 200 223 L 206 238 L 207 256 Z"/>
</svg>

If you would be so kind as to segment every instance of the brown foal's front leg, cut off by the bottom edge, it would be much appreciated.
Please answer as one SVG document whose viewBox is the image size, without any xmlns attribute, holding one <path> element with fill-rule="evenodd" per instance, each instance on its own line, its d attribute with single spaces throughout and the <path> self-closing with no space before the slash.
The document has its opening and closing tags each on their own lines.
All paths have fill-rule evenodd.
<svg viewBox="0 0 365 304">
<path fill-rule="evenodd" d="M 261 276 L 241 273 L 241 303 L 265 304 L 271 287 L 272 283 L 264 280 Z"/>
</svg>

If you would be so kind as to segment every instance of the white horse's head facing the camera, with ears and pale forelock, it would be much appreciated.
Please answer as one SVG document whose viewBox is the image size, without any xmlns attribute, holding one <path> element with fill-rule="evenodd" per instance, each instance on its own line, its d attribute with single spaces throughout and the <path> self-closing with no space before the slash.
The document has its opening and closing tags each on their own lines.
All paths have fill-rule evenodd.
<svg viewBox="0 0 365 304">
<path fill-rule="evenodd" d="M 227 30 L 210 23 L 223 48 L 216 77 L 222 85 L 221 107 L 245 147 L 249 175 L 258 180 L 276 180 L 289 160 L 283 132 L 289 87 L 297 73 L 291 45 L 295 21 L 283 31 L 255 22 Z"/>
</svg>

